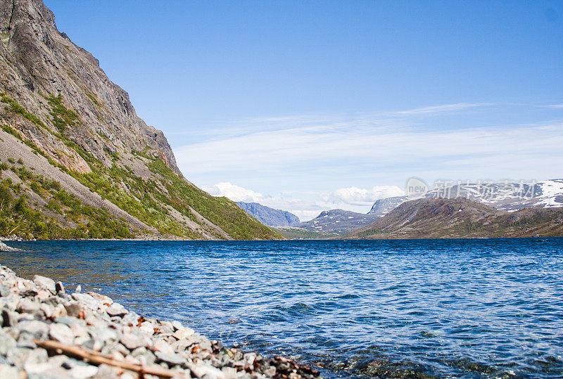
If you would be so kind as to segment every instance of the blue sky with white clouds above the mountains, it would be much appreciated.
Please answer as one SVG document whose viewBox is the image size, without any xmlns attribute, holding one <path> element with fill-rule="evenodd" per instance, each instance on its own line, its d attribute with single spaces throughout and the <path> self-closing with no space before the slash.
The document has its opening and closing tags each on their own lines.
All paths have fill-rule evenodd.
<svg viewBox="0 0 563 379">
<path fill-rule="evenodd" d="M 562 1 L 59 1 L 185 176 L 303 219 L 563 166 Z"/>
</svg>

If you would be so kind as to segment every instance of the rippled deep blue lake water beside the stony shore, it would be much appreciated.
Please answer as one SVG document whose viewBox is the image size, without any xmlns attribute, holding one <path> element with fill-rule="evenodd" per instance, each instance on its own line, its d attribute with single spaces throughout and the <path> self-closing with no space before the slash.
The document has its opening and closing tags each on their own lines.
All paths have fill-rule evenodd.
<svg viewBox="0 0 563 379">
<path fill-rule="evenodd" d="M 324 377 L 563 375 L 563 238 L 8 244 L 16 274 Z"/>
</svg>

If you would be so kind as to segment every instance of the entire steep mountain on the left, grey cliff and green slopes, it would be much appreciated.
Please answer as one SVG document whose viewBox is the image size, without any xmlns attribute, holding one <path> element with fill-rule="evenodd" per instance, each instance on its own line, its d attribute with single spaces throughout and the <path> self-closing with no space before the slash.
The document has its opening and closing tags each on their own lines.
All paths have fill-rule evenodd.
<svg viewBox="0 0 563 379">
<path fill-rule="evenodd" d="M 0 236 L 281 237 L 184 179 L 41 0 L 0 0 L 0 39 Z"/>
</svg>

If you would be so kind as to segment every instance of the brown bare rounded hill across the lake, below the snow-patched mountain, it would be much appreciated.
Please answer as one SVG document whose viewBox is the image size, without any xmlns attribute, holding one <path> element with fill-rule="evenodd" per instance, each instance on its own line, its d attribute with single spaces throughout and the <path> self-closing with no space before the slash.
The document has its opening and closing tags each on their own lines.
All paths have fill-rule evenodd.
<svg viewBox="0 0 563 379">
<path fill-rule="evenodd" d="M 563 236 L 563 208 L 498 210 L 467 198 L 407 201 L 348 238 Z"/>
</svg>

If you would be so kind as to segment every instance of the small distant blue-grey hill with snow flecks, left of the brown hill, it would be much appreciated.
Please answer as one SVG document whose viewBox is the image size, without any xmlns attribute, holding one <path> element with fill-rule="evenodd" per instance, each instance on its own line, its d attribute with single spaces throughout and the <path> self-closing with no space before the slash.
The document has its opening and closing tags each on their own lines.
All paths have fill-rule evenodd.
<svg viewBox="0 0 563 379">
<path fill-rule="evenodd" d="M 314 219 L 301 222 L 297 227 L 309 231 L 344 234 L 365 226 L 377 218 L 378 216 L 375 214 L 363 214 L 349 210 L 325 210 Z"/>
</svg>

